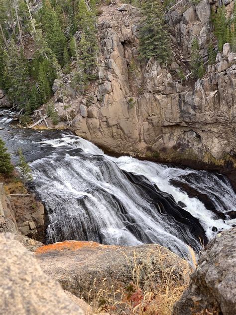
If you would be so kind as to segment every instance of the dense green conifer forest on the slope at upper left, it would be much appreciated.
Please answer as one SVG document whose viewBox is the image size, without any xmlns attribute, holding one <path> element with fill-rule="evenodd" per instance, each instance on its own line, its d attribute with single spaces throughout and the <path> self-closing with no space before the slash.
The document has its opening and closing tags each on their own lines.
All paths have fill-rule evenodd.
<svg viewBox="0 0 236 315">
<path fill-rule="evenodd" d="M 42 0 L 39 10 L 34 2 L 0 0 L 0 88 L 25 122 L 50 100 L 53 81 L 71 71 L 73 59 L 77 81 L 97 78 L 98 1 Z"/>
</svg>

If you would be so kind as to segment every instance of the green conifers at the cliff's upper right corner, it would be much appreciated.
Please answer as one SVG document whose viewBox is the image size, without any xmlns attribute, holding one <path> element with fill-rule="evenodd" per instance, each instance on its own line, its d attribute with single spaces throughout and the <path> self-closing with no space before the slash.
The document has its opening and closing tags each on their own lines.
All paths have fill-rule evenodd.
<svg viewBox="0 0 236 315">
<path fill-rule="evenodd" d="M 218 39 L 219 51 L 223 50 L 225 43 L 230 43 L 232 49 L 236 50 L 236 2 L 232 18 L 227 18 L 226 7 L 222 5 L 217 8 L 217 12 L 212 11 L 212 22 L 214 33 Z"/>
</svg>

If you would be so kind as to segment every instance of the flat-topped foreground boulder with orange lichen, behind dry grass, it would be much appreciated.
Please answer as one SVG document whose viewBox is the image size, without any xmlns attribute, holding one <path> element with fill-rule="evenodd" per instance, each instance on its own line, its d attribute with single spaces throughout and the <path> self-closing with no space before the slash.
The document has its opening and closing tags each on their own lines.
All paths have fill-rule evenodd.
<svg viewBox="0 0 236 315">
<path fill-rule="evenodd" d="M 168 268 L 184 281 L 186 261 L 159 245 L 107 246 L 95 242 L 65 241 L 39 247 L 36 258 L 44 272 L 63 289 L 90 299 L 89 292 L 125 288 L 130 282 L 153 285 L 162 281 Z M 149 278 L 148 278 L 149 277 Z M 151 277 L 151 278 L 150 278 Z"/>
</svg>

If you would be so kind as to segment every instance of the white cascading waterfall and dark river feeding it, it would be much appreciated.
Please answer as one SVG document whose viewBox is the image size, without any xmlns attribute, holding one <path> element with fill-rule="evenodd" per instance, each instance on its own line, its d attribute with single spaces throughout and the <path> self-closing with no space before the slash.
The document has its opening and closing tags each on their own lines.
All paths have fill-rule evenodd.
<svg viewBox="0 0 236 315">
<path fill-rule="evenodd" d="M 48 216 L 48 243 L 158 243 L 188 257 L 188 245 L 198 252 L 236 224 L 236 194 L 221 174 L 114 158 L 70 132 L 11 122 L 12 114 L 0 110 L 0 138 L 12 161 L 17 164 L 21 148 L 32 168 L 32 186 Z"/>
</svg>

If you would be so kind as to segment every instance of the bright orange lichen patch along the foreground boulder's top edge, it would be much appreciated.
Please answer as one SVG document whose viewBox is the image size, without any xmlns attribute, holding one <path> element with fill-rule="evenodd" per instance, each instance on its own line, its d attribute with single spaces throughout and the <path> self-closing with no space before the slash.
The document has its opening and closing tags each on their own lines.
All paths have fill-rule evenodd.
<svg viewBox="0 0 236 315">
<path fill-rule="evenodd" d="M 54 243 L 54 244 L 39 247 L 37 248 L 35 253 L 43 254 L 43 253 L 47 253 L 51 251 L 64 251 L 64 250 L 75 251 L 75 250 L 82 249 L 85 247 L 89 247 L 89 248 L 103 247 L 104 248 L 108 246 L 109 245 L 101 245 L 96 242 L 64 241 L 64 242 L 59 242 L 59 243 Z"/>
</svg>

